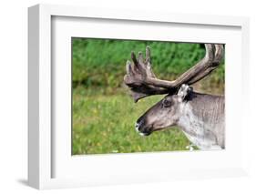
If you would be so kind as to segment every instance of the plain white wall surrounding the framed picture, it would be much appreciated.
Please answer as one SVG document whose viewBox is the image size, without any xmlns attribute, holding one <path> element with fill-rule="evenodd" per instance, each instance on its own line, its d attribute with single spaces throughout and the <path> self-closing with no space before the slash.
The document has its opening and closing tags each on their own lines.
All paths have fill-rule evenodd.
<svg viewBox="0 0 256 194">
<path fill-rule="evenodd" d="M 1 193 L 34 193 L 35 189 L 26 187 L 26 158 L 27 158 L 27 10 L 30 5 L 37 3 L 70 4 L 67 0 L 34 1 L 7 0 L 0 6 L 1 41 L 0 41 L 0 191 Z M 73 0 L 72 5 L 92 5 L 112 8 L 128 8 L 141 10 L 169 11 L 175 13 L 197 13 L 210 15 L 245 15 L 251 18 L 251 83 L 256 83 L 256 53 L 253 43 L 256 43 L 256 12 L 253 1 L 206 1 L 206 0 L 176 0 L 176 1 L 136 1 L 136 0 Z M 256 88 L 256 86 L 255 86 Z M 256 91 L 256 89 L 255 89 Z M 256 99 L 255 91 L 251 99 Z M 255 103 L 253 104 L 255 108 Z M 251 108 L 251 110 L 253 109 Z M 249 128 L 251 137 L 250 150 L 254 151 L 254 135 L 256 128 Z M 240 179 L 211 179 L 201 181 L 177 181 L 170 183 L 144 184 L 132 186 L 99 187 L 87 189 L 66 189 L 64 193 L 159 193 L 159 192 L 189 192 L 216 193 L 238 192 L 249 193 L 255 189 L 256 154 L 251 155 L 251 178 Z M 255 191 L 255 190 L 254 190 Z M 55 193 L 57 190 L 44 191 Z"/>
</svg>

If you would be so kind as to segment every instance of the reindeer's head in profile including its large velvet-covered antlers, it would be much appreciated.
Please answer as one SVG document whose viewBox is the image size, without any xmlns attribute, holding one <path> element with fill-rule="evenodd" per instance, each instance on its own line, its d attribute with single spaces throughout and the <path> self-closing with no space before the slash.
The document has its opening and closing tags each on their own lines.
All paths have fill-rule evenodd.
<svg viewBox="0 0 256 194">
<path fill-rule="evenodd" d="M 133 65 L 130 61 L 127 62 L 127 75 L 124 81 L 130 87 L 135 102 L 150 95 L 168 94 L 138 118 L 135 128 L 140 135 L 148 136 L 153 131 L 176 125 L 181 114 L 181 107 L 192 93 L 189 85 L 206 77 L 220 65 L 223 46 L 205 44 L 205 47 L 204 58 L 174 81 L 161 80 L 155 76 L 151 69 L 148 46 L 145 60 L 141 52 L 138 53 L 138 60 L 135 54 L 131 53 Z"/>
</svg>

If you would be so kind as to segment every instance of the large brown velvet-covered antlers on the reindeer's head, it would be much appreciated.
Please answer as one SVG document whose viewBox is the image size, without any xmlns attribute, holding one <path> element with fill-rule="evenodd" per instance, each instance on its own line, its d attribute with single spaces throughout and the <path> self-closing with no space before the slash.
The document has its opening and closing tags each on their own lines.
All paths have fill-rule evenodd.
<svg viewBox="0 0 256 194">
<path fill-rule="evenodd" d="M 206 77 L 220 65 L 223 56 L 223 46 L 205 44 L 206 54 L 195 66 L 179 76 L 176 80 L 162 80 L 155 76 L 151 68 L 150 49 L 146 47 L 146 59 L 142 53 L 131 53 L 131 59 L 127 62 L 127 75 L 124 77 L 125 84 L 130 87 L 132 96 L 137 102 L 143 97 L 159 94 L 175 94 L 182 84 L 191 85 Z"/>
</svg>

